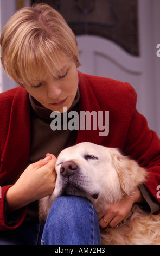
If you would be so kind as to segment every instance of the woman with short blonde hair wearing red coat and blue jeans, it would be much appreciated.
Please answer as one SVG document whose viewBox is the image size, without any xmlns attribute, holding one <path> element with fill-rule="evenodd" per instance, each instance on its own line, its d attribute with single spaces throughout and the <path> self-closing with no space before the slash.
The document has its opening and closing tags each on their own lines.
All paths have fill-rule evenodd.
<svg viewBox="0 0 160 256">
<path fill-rule="evenodd" d="M 0 244 L 100 245 L 99 225 L 115 227 L 133 203 L 158 212 L 160 141 L 137 112 L 130 84 L 79 72 L 75 35 L 48 5 L 17 11 L 5 25 L 0 44 L 4 70 L 20 84 L 0 96 Z M 62 113 L 63 107 L 68 113 L 109 111 L 110 132 L 53 131 L 50 114 Z M 132 197 L 106 205 L 105 215 L 98 217 L 87 199 L 60 197 L 43 229 L 37 200 L 54 190 L 56 156 L 82 141 L 120 148 L 148 169 L 149 179 Z"/>
</svg>

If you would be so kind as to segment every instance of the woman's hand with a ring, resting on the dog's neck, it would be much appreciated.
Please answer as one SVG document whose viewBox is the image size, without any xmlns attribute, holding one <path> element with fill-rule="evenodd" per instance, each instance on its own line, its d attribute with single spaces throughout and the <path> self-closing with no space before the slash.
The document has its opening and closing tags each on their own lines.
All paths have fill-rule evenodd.
<svg viewBox="0 0 160 256">
<path fill-rule="evenodd" d="M 134 203 L 143 202 L 144 199 L 140 193 L 139 188 L 137 187 L 133 192 L 133 196 L 125 195 L 117 204 L 106 205 L 105 211 L 106 214 L 99 214 L 99 225 L 101 228 L 105 227 L 116 227 L 131 210 Z M 107 223 L 103 220 L 107 221 Z"/>
</svg>

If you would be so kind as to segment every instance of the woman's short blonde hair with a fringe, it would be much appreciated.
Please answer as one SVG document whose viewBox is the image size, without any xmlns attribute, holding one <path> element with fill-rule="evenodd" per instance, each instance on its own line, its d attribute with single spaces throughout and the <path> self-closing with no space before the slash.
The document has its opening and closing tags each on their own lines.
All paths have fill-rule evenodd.
<svg viewBox="0 0 160 256">
<path fill-rule="evenodd" d="M 62 58 L 78 60 L 77 41 L 63 17 L 47 4 L 24 7 L 5 25 L 0 38 L 2 65 L 19 84 L 42 80 L 60 71 Z"/>
</svg>

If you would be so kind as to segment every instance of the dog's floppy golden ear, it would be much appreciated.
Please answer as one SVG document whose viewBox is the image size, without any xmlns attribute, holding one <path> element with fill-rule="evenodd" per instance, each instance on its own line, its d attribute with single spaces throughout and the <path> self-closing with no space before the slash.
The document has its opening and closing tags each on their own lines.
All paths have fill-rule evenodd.
<svg viewBox="0 0 160 256">
<path fill-rule="evenodd" d="M 145 181 L 145 169 L 140 167 L 135 160 L 131 160 L 120 153 L 113 155 L 112 160 L 122 190 L 130 195 L 140 183 Z"/>
</svg>

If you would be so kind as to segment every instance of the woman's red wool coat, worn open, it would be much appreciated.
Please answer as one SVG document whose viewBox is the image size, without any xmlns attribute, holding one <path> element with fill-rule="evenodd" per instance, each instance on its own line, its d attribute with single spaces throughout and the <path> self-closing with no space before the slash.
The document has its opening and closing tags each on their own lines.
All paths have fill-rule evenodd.
<svg viewBox="0 0 160 256">
<path fill-rule="evenodd" d="M 135 90 L 128 83 L 80 72 L 79 88 L 79 111 L 109 111 L 110 131 L 106 137 L 100 137 L 98 130 L 78 131 L 76 143 L 89 141 L 120 148 L 124 154 L 136 159 L 142 167 L 148 168 L 149 179 L 145 185 L 158 201 L 160 140 L 155 132 L 149 130 L 143 115 L 137 112 Z M 20 220 L 13 227 L 5 224 L 5 193 L 29 160 L 30 103 L 26 90 L 16 87 L 2 93 L 0 114 L 0 228 L 9 230 L 18 227 L 27 213 L 27 208 L 24 208 Z"/>
</svg>

